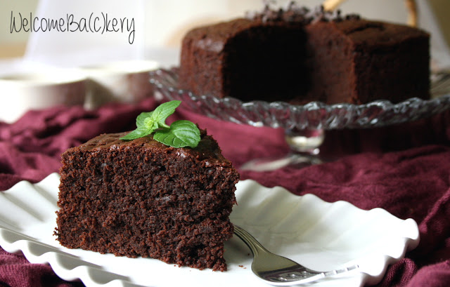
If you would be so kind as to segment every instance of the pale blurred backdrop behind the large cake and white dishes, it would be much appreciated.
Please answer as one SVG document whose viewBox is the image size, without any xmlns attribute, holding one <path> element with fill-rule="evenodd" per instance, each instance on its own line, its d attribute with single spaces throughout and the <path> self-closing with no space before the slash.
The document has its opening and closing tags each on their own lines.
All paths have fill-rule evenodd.
<svg viewBox="0 0 450 287">
<path fill-rule="evenodd" d="M 276 1 L 276 4 L 285 6 L 288 2 Z M 312 7 L 321 4 L 322 1 L 300 0 L 297 3 Z M 441 32 L 439 37 L 442 38 L 439 41 L 449 43 L 450 1 L 418 0 L 417 4 L 419 26 L 424 29 L 439 27 Z M 0 57 L 15 58 L 27 55 L 29 58 L 37 59 L 43 53 L 51 53 L 54 56 L 55 52 L 63 53 L 70 50 L 74 43 L 82 44 L 75 45 L 75 48 L 84 51 L 96 48 L 109 51 L 108 46 L 114 44 L 116 47 L 113 50 L 119 54 L 127 54 L 128 58 L 152 58 L 154 56 L 152 53 L 158 54 L 161 49 L 166 52 L 172 50 L 172 55 L 176 55 L 182 36 L 191 27 L 239 17 L 244 15 L 245 11 L 261 10 L 263 6 L 262 0 L 0 0 Z M 391 22 L 406 23 L 407 18 L 402 0 L 347 0 L 340 8 L 344 13 L 360 13 L 366 18 Z M 30 13 L 33 17 L 46 18 L 65 18 L 66 14 L 73 14 L 75 19 L 102 12 L 115 18 L 128 16 L 135 20 L 135 41 L 132 45 L 125 43 L 127 37 L 120 33 L 115 33 L 113 37 L 105 34 L 86 36 L 89 33 L 83 32 L 33 33 L 23 30 L 11 32 L 11 11 L 16 18 L 18 13 L 28 18 Z M 432 13 L 431 18 L 429 13 Z M 87 41 L 84 42 L 84 39 Z M 173 58 L 167 60 L 173 63 L 176 61 L 177 59 Z"/>
</svg>

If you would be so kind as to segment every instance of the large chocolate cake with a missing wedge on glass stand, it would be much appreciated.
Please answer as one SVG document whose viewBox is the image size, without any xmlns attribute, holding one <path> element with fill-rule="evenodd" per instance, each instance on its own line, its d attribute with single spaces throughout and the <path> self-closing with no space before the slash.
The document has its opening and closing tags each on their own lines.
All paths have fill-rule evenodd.
<svg viewBox="0 0 450 287">
<path fill-rule="evenodd" d="M 429 98 L 429 34 L 291 4 L 188 32 L 179 87 L 294 104 Z"/>
</svg>

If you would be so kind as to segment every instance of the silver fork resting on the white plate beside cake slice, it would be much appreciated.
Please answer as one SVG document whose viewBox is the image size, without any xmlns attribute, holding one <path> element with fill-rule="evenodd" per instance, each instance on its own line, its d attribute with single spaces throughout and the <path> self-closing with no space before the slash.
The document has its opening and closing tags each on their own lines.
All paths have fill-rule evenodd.
<svg viewBox="0 0 450 287">
<path fill-rule="evenodd" d="M 234 225 L 236 234 L 250 248 L 253 254 L 252 272 L 266 283 L 276 286 L 288 286 L 311 283 L 326 277 L 335 276 L 359 268 L 352 265 L 327 272 L 316 272 L 297 262 L 267 251 L 250 233 Z"/>
</svg>

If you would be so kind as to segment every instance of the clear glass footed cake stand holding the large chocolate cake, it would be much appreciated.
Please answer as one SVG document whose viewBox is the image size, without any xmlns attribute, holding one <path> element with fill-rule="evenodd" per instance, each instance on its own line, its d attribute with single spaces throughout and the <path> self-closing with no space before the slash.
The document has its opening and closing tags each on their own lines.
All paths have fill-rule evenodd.
<svg viewBox="0 0 450 287">
<path fill-rule="evenodd" d="M 371 128 L 416 121 L 443 112 L 450 107 L 450 74 L 432 75 L 432 98 L 411 98 L 398 104 L 377 100 L 366 105 L 309 102 L 290 105 L 288 102 L 243 102 L 236 98 L 195 95 L 178 88 L 178 69 L 150 72 L 150 82 L 167 100 L 181 100 L 192 112 L 213 119 L 250 126 L 284 128 L 289 154 L 281 158 L 254 159 L 240 168 L 250 171 L 272 171 L 285 166 L 308 166 L 322 163 L 319 147 L 325 131 L 341 128 Z"/>
</svg>

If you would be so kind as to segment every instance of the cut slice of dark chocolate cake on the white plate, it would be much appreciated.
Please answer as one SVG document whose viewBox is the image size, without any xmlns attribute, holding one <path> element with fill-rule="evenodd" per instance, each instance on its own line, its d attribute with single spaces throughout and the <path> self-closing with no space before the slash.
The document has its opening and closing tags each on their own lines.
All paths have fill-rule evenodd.
<svg viewBox="0 0 450 287">
<path fill-rule="evenodd" d="M 238 173 L 205 131 L 197 147 L 103 134 L 62 155 L 56 235 L 68 248 L 226 270 Z"/>
</svg>

